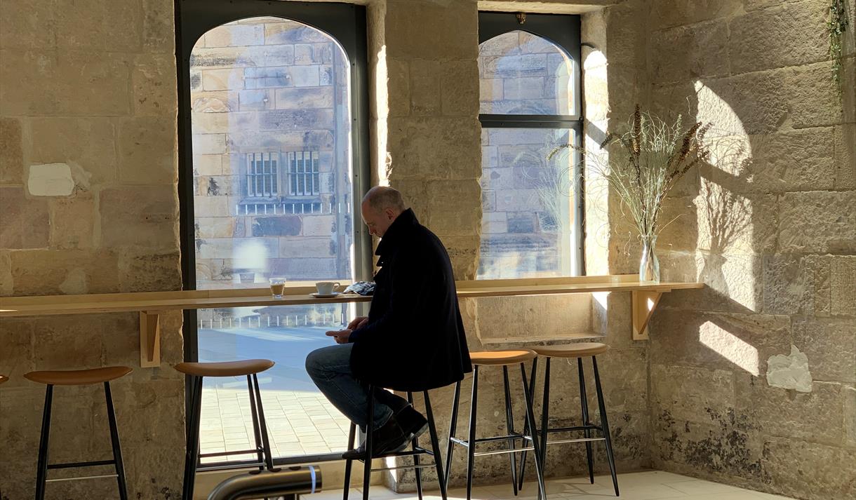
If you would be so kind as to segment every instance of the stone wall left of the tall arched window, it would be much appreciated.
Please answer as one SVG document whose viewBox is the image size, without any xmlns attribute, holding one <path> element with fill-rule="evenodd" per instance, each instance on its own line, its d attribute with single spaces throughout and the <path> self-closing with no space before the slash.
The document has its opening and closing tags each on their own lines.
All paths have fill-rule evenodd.
<svg viewBox="0 0 856 500">
<path fill-rule="evenodd" d="M 171 0 L 0 3 L 3 295 L 181 289 L 173 16 Z M 3 500 L 34 491 L 45 388 L 23 373 L 107 365 L 135 367 L 112 384 L 128 490 L 180 495 L 181 314 L 162 330 L 163 367 L 140 369 L 135 313 L 0 322 Z M 57 387 L 53 408 L 51 461 L 110 456 L 100 387 Z M 110 478 L 47 488 L 115 496 Z"/>
</svg>

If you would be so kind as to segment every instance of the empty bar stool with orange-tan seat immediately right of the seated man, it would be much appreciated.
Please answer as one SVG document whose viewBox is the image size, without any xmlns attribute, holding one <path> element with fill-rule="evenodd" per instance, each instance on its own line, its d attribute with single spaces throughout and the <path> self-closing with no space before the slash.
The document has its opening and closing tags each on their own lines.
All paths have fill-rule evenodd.
<svg viewBox="0 0 856 500">
<path fill-rule="evenodd" d="M 541 454 L 538 453 L 540 447 L 538 446 L 538 436 L 535 433 L 527 434 L 527 431 L 523 433 L 514 432 L 514 415 L 511 413 L 511 396 L 508 390 L 508 366 L 514 365 L 516 363 L 520 363 L 520 378 L 523 382 L 523 396 L 526 398 L 526 429 L 532 429 L 533 426 L 529 426 L 529 423 L 533 423 L 535 421 L 535 417 L 532 414 L 532 394 L 529 390 L 529 387 L 526 384 L 526 361 L 535 360 L 537 354 L 532 349 L 514 349 L 507 351 L 483 351 L 483 352 L 471 352 L 470 360 L 473 362 L 473 396 L 470 400 L 470 426 L 469 426 L 469 437 L 466 441 L 462 439 L 458 439 L 455 437 L 455 427 L 457 426 L 458 420 L 458 402 L 461 398 L 461 382 L 455 384 L 455 399 L 452 402 L 452 420 L 449 427 L 449 448 L 447 450 L 446 456 L 446 478 L 448 480 L 450 469 L 452 467 L 452 454 L 455 450 L 455 444 L 460 444 L 461 446 L 467 448 L 467 500 L 470 500 L 473 492 L 473 461 L 476 456 L 479 455 L 498 455 L 501 453 L 509 453 L 511 455 L 511 473 L 514 484 L 514 495 L 517 495 L 516 488 L 516 461 L 514 460 L 514 453 L 519 451 L 524 451 L 526 449 L 532 449 L 535 451 L 535 468 L 538 472 L 538 491 L 542 498 L 546 498 L 546 491 L 544 490 L 544 475 L 542 474 L 541 467 Z M 507 436 L 496 436 L 496 437 L 482 437 L 476 438 L 476 408 L 479 396 L 479 367 L 480 366 L 502 366 L 502 377 L 505 383 L 505 418 L 506 418 L 506 429 L 508 431 Z M 532 448 L 515 448 L 515 443 L 517 439 L 521 440 L 529 440 L 532 441 Z M 507 441 L 508 442 L 508 450 L 502 451 L 488 451 L 483 453 L 476 453 L 476 444 L 477 443 L 487 443 L 493 441 Z"/>
</svg>

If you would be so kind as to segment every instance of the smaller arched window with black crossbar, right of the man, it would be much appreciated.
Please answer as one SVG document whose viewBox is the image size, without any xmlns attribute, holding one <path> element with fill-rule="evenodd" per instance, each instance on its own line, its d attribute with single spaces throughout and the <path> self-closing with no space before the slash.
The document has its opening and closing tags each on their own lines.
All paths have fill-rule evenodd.
<svg viewBox="0 0 856 500">
<path fill-rule="evenodd" d="M 479 278 L 582 274 L 580 20 L 479 15 Z"/>
</svg>

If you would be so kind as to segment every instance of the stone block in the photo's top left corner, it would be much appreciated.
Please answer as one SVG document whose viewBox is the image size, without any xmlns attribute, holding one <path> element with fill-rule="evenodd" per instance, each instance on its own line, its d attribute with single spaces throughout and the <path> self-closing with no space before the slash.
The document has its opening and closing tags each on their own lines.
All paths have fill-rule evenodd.
<svg viewBox="0 0 856 500">
<path fill-rule="evenodd" d="M 56 47 L 57 10 L 53 3 L 8 0 L 0 10 L 0 49 Z"/>
</svg>

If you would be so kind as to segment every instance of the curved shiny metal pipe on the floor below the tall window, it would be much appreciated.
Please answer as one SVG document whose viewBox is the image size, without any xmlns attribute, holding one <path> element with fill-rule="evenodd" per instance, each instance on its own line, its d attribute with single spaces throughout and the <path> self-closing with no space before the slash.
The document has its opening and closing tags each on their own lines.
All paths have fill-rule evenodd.
<svg viewBox="0 0 856 500">
<path fill-rule="evenodd" d="M 211 491 L 208 500 L 248 500 L 318 491 L 321 491 L 321 469 L 310 465 L 253 471 L 226 479 Z"/>
</svg>

